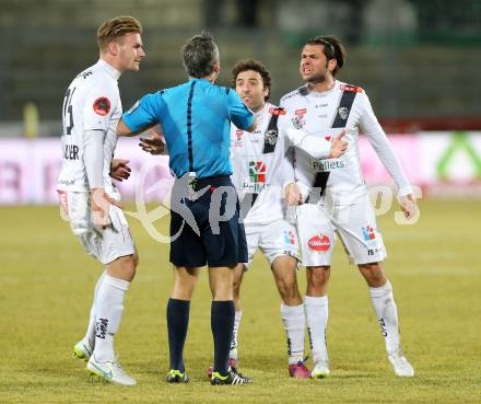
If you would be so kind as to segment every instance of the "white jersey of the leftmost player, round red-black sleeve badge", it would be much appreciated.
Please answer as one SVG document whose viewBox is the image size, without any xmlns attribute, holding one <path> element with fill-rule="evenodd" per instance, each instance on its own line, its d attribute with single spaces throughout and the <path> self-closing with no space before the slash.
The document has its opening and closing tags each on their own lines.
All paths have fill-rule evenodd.
<svg viewBox="0 0 481 404">
<path fill-rule="evenodd" d="M 69 85 L 63 100 L 63 162 L 57 189 L 90 189 L 83 162 L 84 131 L 104 130 L 104 187 L 112 192 L 109 172 L 117 145 L 117 123 L 122 114 L 117 80 L 120 72 L 104 60 L 82 71 Z"/>
</svg>

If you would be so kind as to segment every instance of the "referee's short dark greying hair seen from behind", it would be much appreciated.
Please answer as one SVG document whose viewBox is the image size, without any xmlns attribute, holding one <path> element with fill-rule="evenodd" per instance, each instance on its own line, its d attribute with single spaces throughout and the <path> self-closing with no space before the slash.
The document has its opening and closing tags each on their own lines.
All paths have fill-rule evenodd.
<svg viewBox="0 0 481 404">
<path fill-rule="evenodd" d="M 183 46 L 183 61 L 187 74 L 201 79 L 214 70 L 214 64 L 219 61 L 219 48 L 214 38 L 208 32 L 192 36 Z"/>
</svg>

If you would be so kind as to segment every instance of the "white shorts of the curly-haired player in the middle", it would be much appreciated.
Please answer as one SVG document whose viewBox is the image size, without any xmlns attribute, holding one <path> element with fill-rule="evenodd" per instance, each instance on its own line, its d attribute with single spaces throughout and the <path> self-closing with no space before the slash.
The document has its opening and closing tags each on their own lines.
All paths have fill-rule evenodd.
<svg viewBox="0 0 481 404">
<path fill-rule="evenodd" d="M 272 265 L 278 256 L 290 255 L 300 259 L 297 230 L 294 224 L 279 219 L 269 224 L 244 223 L 247 239 L 248 262 L 253 262 L 254 254 L 260 249 L 263 256 Z"/>
</svg>

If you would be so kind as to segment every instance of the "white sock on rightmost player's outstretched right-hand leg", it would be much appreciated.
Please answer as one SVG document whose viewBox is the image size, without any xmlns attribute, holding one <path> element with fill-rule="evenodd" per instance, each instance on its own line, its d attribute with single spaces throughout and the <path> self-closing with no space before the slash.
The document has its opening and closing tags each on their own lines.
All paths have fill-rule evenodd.
<svg viewBox="0 0 481 404">
<path fill-rule="evenodd" d="M 388 354 L 399 349 L 398 308 L 392 296 L 392 287 L 388 281 L 379 288 L 369 288 L 371 301 L 386 342 Z"/>
</svg>

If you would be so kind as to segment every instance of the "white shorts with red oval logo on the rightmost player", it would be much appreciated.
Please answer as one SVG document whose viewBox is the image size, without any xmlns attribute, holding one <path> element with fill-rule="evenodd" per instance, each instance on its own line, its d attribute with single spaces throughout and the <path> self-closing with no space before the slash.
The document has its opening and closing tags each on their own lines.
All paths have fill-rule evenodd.
<svg viewBox="0 0 481 404">
<path fill-rule="evenodd" d="M 297 228 L 304 266 L 330 266 L 337 234 L 350 262 L 356 265 L 384 261 L 383 235 L 368 196 L 352 205 L 328 208 L 304 204 L 297 207 Z"/>
</svg>

